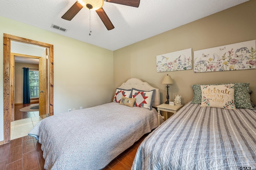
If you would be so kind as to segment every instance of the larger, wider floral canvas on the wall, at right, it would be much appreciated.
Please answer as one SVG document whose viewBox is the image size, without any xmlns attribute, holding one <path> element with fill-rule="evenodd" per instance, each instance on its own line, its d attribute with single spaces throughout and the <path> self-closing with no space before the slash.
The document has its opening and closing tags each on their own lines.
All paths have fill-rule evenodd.
<svg viewBox="0 0 256 170">
<path fill-rule="evenodd" d="M 194 72 L 256 68 L 256 40 L 194 51 Z"/>
</svg>

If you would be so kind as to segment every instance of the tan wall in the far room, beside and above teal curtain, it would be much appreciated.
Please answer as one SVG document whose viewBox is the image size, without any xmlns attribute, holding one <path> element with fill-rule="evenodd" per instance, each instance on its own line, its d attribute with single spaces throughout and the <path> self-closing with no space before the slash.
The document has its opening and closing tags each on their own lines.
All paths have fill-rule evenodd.
<svg viewBox="0 0 256 170">
<path fill-rule="evenodd" d="M 23 103 L 23 67 L 38 69 L 39 65 L 28 63 L 15 63 L 14 104 Z"/>
</svg>

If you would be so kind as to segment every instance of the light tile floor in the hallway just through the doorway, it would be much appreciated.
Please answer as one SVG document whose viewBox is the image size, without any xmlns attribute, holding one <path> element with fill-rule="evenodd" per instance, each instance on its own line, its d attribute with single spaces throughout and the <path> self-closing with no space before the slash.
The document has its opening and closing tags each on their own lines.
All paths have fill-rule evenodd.
<svg viewBox="0 0 256 170">
<path fill-rule="evenodd" d="M 11 140 L 28 135 L 30 130 L 40 120 L 42 120 L 42 118 L 40 116 L 36 116 L 36 117 L 30 117 L 26 119 L 12 121 L 11 122 Z"/>
</svg>

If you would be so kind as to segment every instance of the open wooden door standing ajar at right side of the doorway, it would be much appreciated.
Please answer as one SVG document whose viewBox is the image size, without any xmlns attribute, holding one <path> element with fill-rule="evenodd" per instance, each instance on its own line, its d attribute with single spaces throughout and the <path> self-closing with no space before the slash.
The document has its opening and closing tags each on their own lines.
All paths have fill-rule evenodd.
<svg viewBox="0 0 256 170">
<path fill-rule="evenodd" d="M 47 69 L 47 51 L 45 56 L 39 59 L 39 115 L 42 119 L 48 114 L 48 69 Z"/>
</svg>

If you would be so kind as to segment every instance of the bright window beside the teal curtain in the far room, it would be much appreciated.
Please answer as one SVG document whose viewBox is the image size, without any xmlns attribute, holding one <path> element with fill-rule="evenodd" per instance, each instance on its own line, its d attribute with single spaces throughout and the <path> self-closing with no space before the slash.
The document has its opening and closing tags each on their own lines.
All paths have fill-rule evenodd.
<svg viewBox="0 0 256 170">
<path fill-rule="evenodd" d="M 30 98 L 39 98 L 39 71 L 29 70 Z"/>
</svg>

